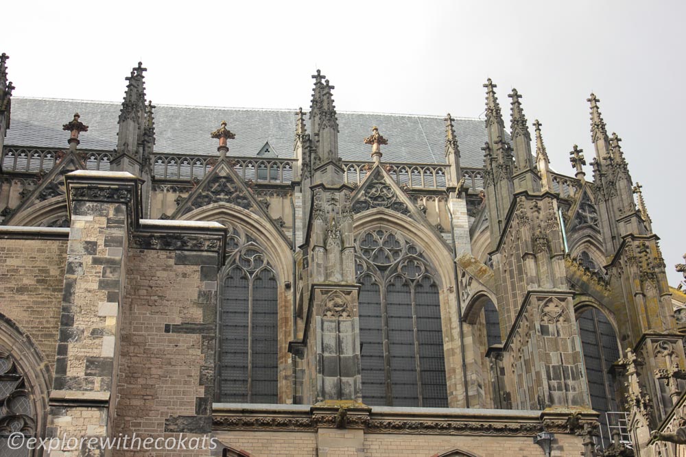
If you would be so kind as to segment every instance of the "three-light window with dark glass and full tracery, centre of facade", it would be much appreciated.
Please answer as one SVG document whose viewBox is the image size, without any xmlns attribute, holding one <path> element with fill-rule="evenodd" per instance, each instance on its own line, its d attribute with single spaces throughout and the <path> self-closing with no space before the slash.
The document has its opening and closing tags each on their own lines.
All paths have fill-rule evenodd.
<svg viewBox="0 0 686 457">
<path fill-rule="evenodd" d="M 421 251 L 384 230 L 357 238 L 362 401 L 448 406 L 436 274 Z"/>
</svg>

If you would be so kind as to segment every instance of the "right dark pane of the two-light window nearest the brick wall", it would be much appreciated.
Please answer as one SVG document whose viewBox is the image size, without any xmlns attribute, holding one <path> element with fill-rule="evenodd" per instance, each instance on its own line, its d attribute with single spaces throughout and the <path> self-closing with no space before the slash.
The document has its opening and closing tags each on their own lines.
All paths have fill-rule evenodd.
<svg viewBox="0 0 686 457">
<path fill-rule="evenodd" d="M 252 284 L 252 403 L 278 401 L 277 294 L 273 273 L 260 271 Z"/>
</svg>

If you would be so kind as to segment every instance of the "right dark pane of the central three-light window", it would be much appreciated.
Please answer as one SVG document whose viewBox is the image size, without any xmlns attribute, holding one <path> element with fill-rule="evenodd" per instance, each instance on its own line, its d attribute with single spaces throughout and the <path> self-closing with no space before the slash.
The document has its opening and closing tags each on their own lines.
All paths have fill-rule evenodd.
<svg viewBox="0 0 686 457">
<path fill-rule="evenodd" d="M 419 346 L 419 370 L 422 381 L 422 406 L 447 408 L 443 332 L 440 323 L 438 288 L 423 277 L 414 289 L 414 303 Z"/>
</svg>

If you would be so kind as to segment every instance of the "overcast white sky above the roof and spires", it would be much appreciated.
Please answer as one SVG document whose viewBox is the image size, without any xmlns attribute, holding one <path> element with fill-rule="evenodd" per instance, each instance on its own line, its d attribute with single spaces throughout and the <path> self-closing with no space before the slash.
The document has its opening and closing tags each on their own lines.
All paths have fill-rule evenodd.
<svg viewBox="0 0 686 457">
<path fill-rule="evenodd" d="M 569 175 L 573 144 L 593 158 L 593 90 L 643 184 L 670 283 L 681 280 L 686 2 L 26 1 L 4 12 L 0 51 L 19 97 L 120 101 L 142 60 L 156 103 L 307 108 L 320 68 L 339 110 L 477 117 L 491 77 L 506 116 L 510 88 L 523 95 Z"/>
</svg>

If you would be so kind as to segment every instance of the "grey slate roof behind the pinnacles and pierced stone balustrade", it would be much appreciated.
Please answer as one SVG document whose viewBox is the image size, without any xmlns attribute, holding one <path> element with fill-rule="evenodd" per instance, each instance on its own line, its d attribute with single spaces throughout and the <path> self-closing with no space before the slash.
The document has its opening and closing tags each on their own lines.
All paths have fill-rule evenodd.
<svg viewBox="0 0 686 457">
<path fill-rule="evenodd" d="M 117 146 L 120 103 L 65 99 L 12 97 L 12 118 L 5 145 L 66 148 L 67 132 L 62 124 L 75 112 L 88 125 L 81 134 L 80 149 L 111 151 Z M 230 156 L 256 156 L 265 142 L 279 157 L 293 157 L 296 110 L 252 108 L 206 108 L 157 105 L 155 110 L 156 153 L 215 155 L 217 140 L 210 132 L 221 121 L 236 134 L 229 141 Z M 382 149 L 388 162 L 444 163 L 444 116 L 338 112 L 339 153 L 343 160 L 370 160 L 370 147 L 362 143 L 372 125 L 388 138 Z M 309 129 L 309 121 L 307 122 Z M 479 119 L 456 119 L 461 164 L 482 167 L 486 127 Z"/>
</svg>

